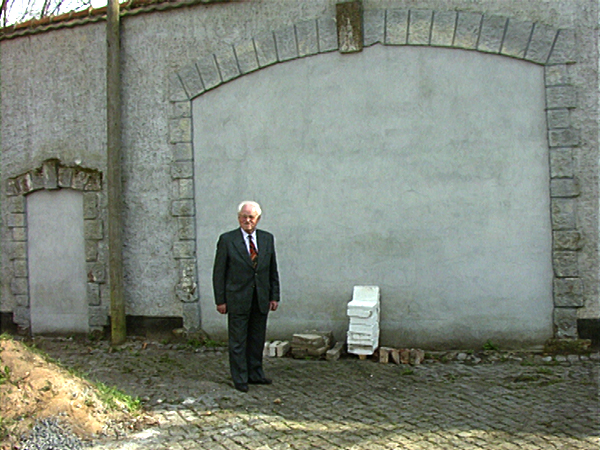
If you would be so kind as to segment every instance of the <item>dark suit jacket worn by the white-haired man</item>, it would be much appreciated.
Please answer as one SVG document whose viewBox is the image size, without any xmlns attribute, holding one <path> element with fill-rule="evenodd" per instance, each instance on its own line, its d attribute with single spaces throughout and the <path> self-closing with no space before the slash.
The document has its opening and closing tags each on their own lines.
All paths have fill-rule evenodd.
<svg viewBox="0 0 600 450">
<path fill-rule="evenodd" d="M 252 265 L 240 228 L 222 234 L 217 242 L 213 266 L 215 303 L 227 303 L 230 314 L 250 312 L 254 289 L 263 314 L 269 311 L 270 301 L 279 301 L 279 273 L 273 235 L 256 230 L 256 241 L 256 268 Z"/>
</svg>

